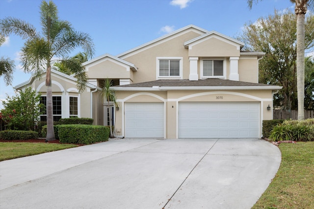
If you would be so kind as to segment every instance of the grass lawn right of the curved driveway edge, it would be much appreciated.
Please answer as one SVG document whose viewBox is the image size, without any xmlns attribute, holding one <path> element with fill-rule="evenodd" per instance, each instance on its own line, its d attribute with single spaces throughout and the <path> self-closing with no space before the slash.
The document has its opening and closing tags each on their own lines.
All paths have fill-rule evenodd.
<svg viewBox="0 0 314 209">
<path fill-rule="evenodd" d="M 281 143 L 280 168 L 252 209 L 314 209 L 314 142 Z"/>
</svg>

